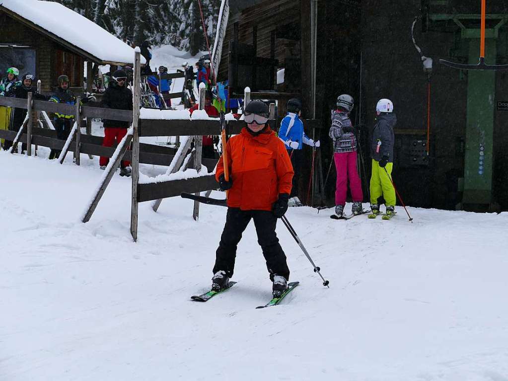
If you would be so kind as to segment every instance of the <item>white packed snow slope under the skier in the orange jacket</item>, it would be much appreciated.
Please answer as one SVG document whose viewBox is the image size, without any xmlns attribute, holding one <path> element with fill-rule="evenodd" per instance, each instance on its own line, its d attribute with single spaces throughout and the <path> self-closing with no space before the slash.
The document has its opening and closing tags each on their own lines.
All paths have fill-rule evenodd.
<svg viewBox="0 0 508 381">
<path fill-rule="evenodd" d="M 279 223 L 301 284 L 256 309 L 271 283 L 249 226 L 238 283 L 198 303 L 225 208 L 196 222 L 188 200 L 143 203 L 133 243 L 130 180 L 115 175 L 82 224 L 97 160 L 47 153 L 0 152 L 2 380 L 508 380 L 507 213 L 409 208 L 411 224 L 401 208 L 390 221 L 292 208 L 330 288 Z"/>
</svg>

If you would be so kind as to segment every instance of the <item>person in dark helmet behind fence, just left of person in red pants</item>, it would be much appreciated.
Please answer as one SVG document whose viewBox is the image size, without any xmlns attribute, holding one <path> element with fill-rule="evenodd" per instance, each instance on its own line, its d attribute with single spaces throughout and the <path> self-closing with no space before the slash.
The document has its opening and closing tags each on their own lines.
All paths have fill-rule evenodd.
<svg viewBox="0 0 508 381">
<path fill-rule="evenodd" d="M 62 103 L 67 105 L 75 105 L 76 97 L 74 93 L 69 89 L 69 77 L 65 74 L 58 77 L 58 87 L 55 92 L 49 98 L 49 102 Z M 74 122 L 74 115 L 66 115 L 55 112 L 53 119 L 53 125 L 55 126 L 56 137 L 60 140 L 67 140 L 71 133 Z M 60 155 L 59 149 L 51 149 L 49 158 L 54 159 Z"/>
</svg>

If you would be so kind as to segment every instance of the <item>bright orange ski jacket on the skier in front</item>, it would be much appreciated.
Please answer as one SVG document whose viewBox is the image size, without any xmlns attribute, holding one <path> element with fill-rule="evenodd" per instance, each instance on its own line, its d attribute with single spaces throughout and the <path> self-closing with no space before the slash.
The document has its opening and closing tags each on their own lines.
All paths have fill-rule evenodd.
<svg viewBox="0 0 508 381">
<path fill-rule="evenodd" d="M 272 210 L 280 193 L 291 194 L 294 171 L 288 150 L 272 130 L 252 136 L 246 128 L 229 139 L 229 177 L 233 186 L 228 192 L 228 206 L 241 210 Z M 215 178 L 224 173 L 222 156 Z"/>
</svg>

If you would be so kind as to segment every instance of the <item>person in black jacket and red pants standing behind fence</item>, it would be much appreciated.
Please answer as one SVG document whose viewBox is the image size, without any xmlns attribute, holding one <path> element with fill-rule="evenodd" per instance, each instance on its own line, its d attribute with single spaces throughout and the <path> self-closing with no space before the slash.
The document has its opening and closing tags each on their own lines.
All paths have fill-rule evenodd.
<svg viewBox="0 0 508 381">
<path fill-rule="evenodd" d="M 132 91 L 125 86 L 127 74 L 123 70 L 117 70 L 113 73 L 112 81 L 102 97 L 101 107 L 115 110 L 132 110 Z M 103 147 L 112 147 L 113 144 L 119 144 L 127 134 L 129 128 L 128 121 L 104 119 L 104 141 Z M 106 169 L 109 163 L 109 157 L 101 156 L 99 165 L 101 169 Z M 131 163 L 122 160 L 120 163 L 120 176 L 131 176 Z"/>
</svg>

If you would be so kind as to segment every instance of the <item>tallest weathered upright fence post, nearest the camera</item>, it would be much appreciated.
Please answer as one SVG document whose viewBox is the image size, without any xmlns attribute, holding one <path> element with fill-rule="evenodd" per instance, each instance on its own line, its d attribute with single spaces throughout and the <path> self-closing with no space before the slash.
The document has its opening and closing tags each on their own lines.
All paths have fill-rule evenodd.
<svg viewBox="0 0 508 381">
<path fill-rule="evenodd" d="M 132 113 L 132 197 L 131 197 L 131 235 L 136 242 L 138 239 L 138 182 L 139 182 L 139 106 L 141 101 L 141 53 L 139 48 L 134 53 L 134 97 Z"/>
</svg>

